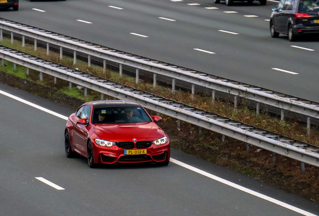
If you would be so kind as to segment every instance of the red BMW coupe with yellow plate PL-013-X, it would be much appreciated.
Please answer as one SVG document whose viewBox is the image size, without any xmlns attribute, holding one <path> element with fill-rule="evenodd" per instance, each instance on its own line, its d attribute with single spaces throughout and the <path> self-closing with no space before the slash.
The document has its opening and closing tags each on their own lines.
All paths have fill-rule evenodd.
<svg viewBox="0 0 319 216">
<path fill-rule="evenodd" d="M 135 101 L 86 102 L 67 121 L 66 156 L 85 156 L 90 167 L 136 162 L 167 165 L 170 139 L 157 125 L 162 120 Z"/>
</svg>

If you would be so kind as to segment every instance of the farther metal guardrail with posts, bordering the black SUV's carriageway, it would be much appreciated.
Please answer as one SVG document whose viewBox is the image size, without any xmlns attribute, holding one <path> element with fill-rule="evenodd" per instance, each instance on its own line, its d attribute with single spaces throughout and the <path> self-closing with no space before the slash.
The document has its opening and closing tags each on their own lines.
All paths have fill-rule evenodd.
<svg viewBox="0 0 319 216">
<path fill-rule="evenodd" d="M 237 96 L 244 97 L 257 102 L 257 111 L 259 110 L 259 104 L 262 103 L 279 108 L 281 110 L 288 110 L 298 113 L 300 115 L 307 116 L 308 129 L 310 128 L 310 118 L 319 119 L 319 103 L 314 101 L 309 101 L 243 82 L 214 76 L 205 72 L 192 70 L 166 62 L 149 59 L 4 18 L 0 18 L 0 30 L 0 37 L 3 35 L 3 30 L 6 30 L 12 32 L 12 39 L 13 33 L 17 33 L 23 35 L 23 38 L 24 36 L 27 36 L 34 38 L 35 40 L 47 42 L 48 48 L 49 44 L 51 43 L 60 47 L 74 50 L 74 52 L 78 51 L 88 54 L 88 58 L 90 58 L 90 56 L 95 56 L 103 59 L 103 61 L 108 60 L 120 65 L 126 65 L 144 71 L 149 71 L 154 74 L 161 74 L 172 78 L 172 83 L 174 83 L 174 86 L 175 80 L 186 81 L 192 84 L 192 92 L 193 90 L 195 91 L 195 85 L 198 85 L 211 89 L 213 91 L 213 95 L 215 95 L 215 91 L 234 95 L 235 101 Z M 2 38 L 0 38 L 0 40 L 1 39 Z M 60 48 L 60 52 L 62 52 L 62 48 Z M 74 54 L 76 55 L 76 53 Z M 308 130 L 308 134 L 309 131 L 310 130 Z"/>
</svg>

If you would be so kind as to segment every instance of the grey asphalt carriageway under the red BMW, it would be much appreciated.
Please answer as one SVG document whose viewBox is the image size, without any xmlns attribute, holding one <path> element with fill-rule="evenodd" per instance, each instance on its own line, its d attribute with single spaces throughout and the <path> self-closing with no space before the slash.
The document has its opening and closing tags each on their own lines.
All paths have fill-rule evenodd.
<svg viewBox="0 0 319 216">
<path fill-rule="evenodd" d="M 0 90 L 62 115 L 73 112 L 1 83 Z M 0 215 L 319 214 L 319 206 L 313 202 L 174 149 L 174 159 L 168 166 L 89 168 L 86 158 L 65 156 L 65 117 L 39 110 L 3 92 L 0 101 Z M 193 167 L 185 168 L 182 162 Z M 216 176 L 222 179 L 212 179 Z M 244 186 L 244 191 L 237 185 L 222 183 L 225 179 Z M 267 199 L 273 202 L 245 192 L 247 188 L 272 197 Z M 286 208 L 280 203 L 292 206 Z"/>
</svg>

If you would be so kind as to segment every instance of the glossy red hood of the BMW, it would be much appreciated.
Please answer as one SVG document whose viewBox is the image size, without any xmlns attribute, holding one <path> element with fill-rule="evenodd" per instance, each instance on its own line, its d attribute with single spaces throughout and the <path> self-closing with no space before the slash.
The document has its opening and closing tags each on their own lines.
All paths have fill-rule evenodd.
<svg viewBox="0 0 319 216">
<path fill-rule="evenodd" d="M 96 124 L 94 132 L 108 141 L 155 140 L 165 136 L 164 131 L 154 122 L 125 124 Z"/>
</svg>

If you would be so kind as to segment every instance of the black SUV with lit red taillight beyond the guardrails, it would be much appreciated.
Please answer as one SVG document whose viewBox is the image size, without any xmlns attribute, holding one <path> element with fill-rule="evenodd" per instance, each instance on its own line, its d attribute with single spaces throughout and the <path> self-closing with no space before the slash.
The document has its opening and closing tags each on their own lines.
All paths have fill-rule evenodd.
<svg viewBox="0 0 319 216">
<path fill-rule="evenodd" d="M 301 35 L 319 35 L 319 0 L 280 0 L 272 8 L 270 34 L 288 34 L 290 41 Z"/>
</svg>

